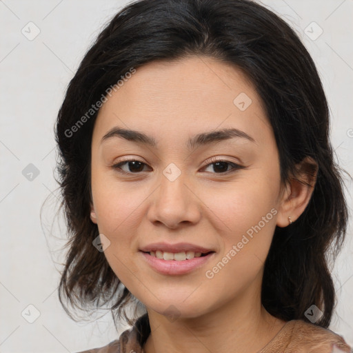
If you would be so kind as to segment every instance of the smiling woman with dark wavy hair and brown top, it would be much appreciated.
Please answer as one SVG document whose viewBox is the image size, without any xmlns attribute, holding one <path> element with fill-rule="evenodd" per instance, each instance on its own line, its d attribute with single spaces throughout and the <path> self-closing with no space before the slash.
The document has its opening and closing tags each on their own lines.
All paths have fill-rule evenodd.
<svg viewBox="0 0 353 353">
<path fill-rule="evenodd" d="M 248 0 L 131 3 L 56 129 L 60 301 L 133 325 L 87 352 L 350 352 L 327 329 L 325 255 L 347 225 L 327 101 L 282 19 Z"/>
</svg>

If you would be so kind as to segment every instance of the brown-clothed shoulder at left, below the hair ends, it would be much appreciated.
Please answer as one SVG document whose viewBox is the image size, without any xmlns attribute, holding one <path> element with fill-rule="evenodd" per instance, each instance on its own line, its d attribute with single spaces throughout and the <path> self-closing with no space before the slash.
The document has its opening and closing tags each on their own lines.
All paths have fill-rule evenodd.
<svg viewBox="0 0 353 353">
<path fill-rule="evenodd" d="M 108 345 L 103 347 L 92 348 L 91 350 L 85 350 L 77 353 L 141 353 L 142 348 L 137 341 L 136 331 L 131 328 L 125 330 L 119 337 Z"/>
</svg>

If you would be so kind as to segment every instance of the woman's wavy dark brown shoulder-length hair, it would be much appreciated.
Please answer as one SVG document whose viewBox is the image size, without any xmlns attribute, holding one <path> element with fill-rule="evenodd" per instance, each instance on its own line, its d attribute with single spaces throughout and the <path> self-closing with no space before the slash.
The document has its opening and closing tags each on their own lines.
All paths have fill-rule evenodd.
<svg viewBox="0 0 353 353">
<path fill-rule="evenodd" d="M 316 161 L 307 208 L 274 232 L 261 301 L 284 321 L 307 320 L 304 313 L 314 304 L 323 311 L 316 325 L 328 327 L 335 292 L 327 256 L 335 259 L 343 245 L 347 205 L 330 144 L 327 100 L 299 37 L 276 14 L 248 0 L 135 1 L 116 14 L 83 57 L 55 126 L 69 237 L 59 285 L 63 307 L 70 314 L 68 304 L 83 310 L 108 305 L 119 320 L 134 300 L 104 253 L 92 245 L 99 234 L 90 221 L 90 148 L 97 112 L 74 132 L 72 126 L 130 68 L 190 55 L 231 63 L 254 83 L 274 131 L 282 183 L 298 175 L 296 164 L 305 157 Z"/>
</svg>

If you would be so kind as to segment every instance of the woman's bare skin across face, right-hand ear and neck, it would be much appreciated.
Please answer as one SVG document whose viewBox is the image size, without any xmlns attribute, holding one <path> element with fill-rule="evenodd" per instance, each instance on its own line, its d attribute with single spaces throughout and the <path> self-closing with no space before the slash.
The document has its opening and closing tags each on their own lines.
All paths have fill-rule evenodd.
<svg viewBox="0 0 353 353">
<path fill-rule="evenodd" d="M 233 103 L 241 92 L 252 99 L 244 111 Z M 144 132 L 158 147 L 119 137 L 101 143 L 114 126 Z M 189 137 L 222 128 L 238 128 L 255 143 L 238 138 L 185 147 Z M 112 165 L 122 157 L 145 165 L 125 163 L 121 168 L 130 175 L 120 174 Z M 245 168 L 225 174 L 210 157 Z M 175 181 L 163 174 L 170 163 L 181 171 Z M 110 240 L 105 256 L 112 270 L 148 311 L 146 353 L 258 352 L 281 330 L 285 322 L 261 305 L 264 261 L 276 225 L 300 216 L 312 188 L 294 180 L 281 185 L 271 125 L 240 70 L 207 57 L 138 68 L 99 111 L 91 170 L 91 219 Z M 304 179 L 310 181 L 303 173 Z M 272 219 L 208 279 L 205 271 L 273 208 Z M 216 254 L 189 274 L 159 274 L 139 252 L 158 241 L 194 243 Z"/>
</svg>

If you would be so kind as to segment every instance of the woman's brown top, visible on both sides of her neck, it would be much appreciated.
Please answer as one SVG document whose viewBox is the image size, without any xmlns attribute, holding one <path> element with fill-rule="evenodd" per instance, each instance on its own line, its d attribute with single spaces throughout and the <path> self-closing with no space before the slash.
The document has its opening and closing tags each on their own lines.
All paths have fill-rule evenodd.
<svg viewBox="0 0 353 353">
<path fill-rule="evenodd" d="M 125 330 L 119 339 L 108 345 L 79 353 L 143 353 L 142 346 L 149 335 L 147 314 L 137 320 L 143 331 L 139 334 L 137 325 Z M 334 347 L 334 345 L 336 347 Z M 343 337 L 331 330 L 306 323 L 303 320 L 291 320 L 285 323 L 274 338 L 258 353 L 353 353 Z"/>
</svg>

